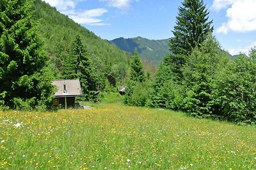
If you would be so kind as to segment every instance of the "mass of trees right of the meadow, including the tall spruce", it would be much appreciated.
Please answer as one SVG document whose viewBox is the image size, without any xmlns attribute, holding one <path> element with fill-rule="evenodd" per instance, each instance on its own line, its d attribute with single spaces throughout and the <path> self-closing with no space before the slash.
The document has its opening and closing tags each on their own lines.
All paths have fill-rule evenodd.
<svg viewBox="0 0 256 170">
<path fill-rule="evenodd" d="M 235 60 L 212 37 L 202 0 L 185 0 L 154 81 L 130 74 L 125 103 L 186 111 L 193 117 L 256 123 L 256 50 Z M 134 61 L 133 61 L 134 62 Z M 132 67 L 131 67 L 132 68 Z M 137 73 L 138 68 L 132 68 Z M 143 81 L 141 81 L 143 80 Z"/>
</svg>

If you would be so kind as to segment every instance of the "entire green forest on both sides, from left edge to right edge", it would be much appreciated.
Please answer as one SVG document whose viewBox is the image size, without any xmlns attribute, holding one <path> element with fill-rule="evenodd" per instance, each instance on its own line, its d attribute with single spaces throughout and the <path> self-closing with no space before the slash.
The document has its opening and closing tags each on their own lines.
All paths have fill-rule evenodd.
<svg viewBox="0 0 256 170">
<path fill-rule="evenodd" d="M 154 76 L 145 71 L 140 49 L 131 56 L 40 0 L 1 1 L 0 10 L 2 109 L 50 110 L 52 80 L 79 78 L 84 101 L 125 85 L 128 105 L 256 122 L 256 49 L 230 60 L 212 36 L 202 0 L 180 5 L 172 53 Z"/>
</svg>

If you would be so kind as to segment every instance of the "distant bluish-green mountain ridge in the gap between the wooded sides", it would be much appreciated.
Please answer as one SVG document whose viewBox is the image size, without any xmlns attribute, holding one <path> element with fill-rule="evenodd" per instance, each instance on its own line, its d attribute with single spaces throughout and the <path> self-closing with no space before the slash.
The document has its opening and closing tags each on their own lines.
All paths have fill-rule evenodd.
<svg viewBox="0 0 256 170">
<path fill-rule="evenodd" d="M 170 53 L 168 39 L 150 40 L 142 37 L 117 38 L 110 42 L 125 52 L 134 53 L 135 48 L 137 48 L 143 60 L 149 60 L 155 64 L 159 64 L 163 60 L 164 55 Z"/>
</svg>

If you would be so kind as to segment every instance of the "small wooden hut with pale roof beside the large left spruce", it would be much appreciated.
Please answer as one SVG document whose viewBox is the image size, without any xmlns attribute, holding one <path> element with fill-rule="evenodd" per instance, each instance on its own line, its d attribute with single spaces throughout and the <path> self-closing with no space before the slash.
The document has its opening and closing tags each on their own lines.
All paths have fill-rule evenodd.
<svg viewBox="0 0 256 170">
<path fill-rule="evenodd" d="M 54 106 L 61 104 L 65 108 L 75 105 L 76 97 L 83 96 L 80 81 L 77 80 L 55 80 L 52 82 L 58 88 L 54 94 Z"/>
</svg>

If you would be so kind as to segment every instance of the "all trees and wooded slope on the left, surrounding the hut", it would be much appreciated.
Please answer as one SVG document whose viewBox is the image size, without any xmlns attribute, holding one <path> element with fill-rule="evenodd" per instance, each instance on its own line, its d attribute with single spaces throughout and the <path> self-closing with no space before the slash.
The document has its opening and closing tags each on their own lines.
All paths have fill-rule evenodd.
<svg viewBox="0 0 256 170">
<path fill-rule="evenodd" d="M 129 60 L 40 0 L 0 3 L 0 108 L 49 110 L 58 79 L 79 78 L 81 99 L 97 101 L 124 81 Z"/>
</svg>

